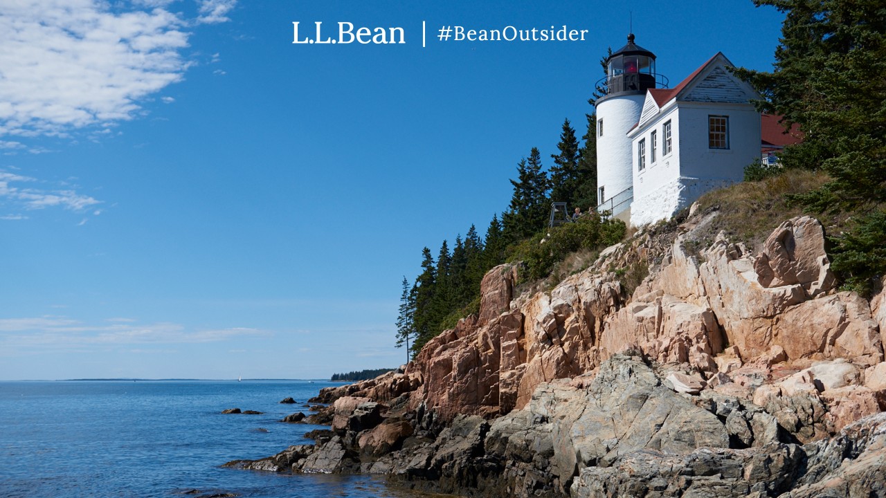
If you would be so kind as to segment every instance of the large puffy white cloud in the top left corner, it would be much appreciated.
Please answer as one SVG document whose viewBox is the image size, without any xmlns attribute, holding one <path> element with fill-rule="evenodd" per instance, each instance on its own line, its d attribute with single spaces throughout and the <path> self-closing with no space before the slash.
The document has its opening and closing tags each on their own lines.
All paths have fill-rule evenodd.
<svg viewBox="0 0 886 498">
<path fill-rule="evenodd" d="M 192 21 L 170 0 L 0 3 L 0 136 L 66 136 L 139 115 L 140 100 L 182 79 Z M 228 20 L 234 0 L 200 0 L 197 23 Z M 5 145 L 4 145 L 5 144 Z M 18 142 L 0 149 L 19 149 Z"/>
</svg>

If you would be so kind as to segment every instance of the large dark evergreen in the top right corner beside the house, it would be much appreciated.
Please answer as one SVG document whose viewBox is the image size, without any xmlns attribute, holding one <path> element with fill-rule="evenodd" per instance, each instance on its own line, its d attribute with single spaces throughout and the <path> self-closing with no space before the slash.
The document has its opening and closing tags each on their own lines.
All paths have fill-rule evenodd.
<svg viewBox="0 0 886 498">
<path fill-rule="evenodd" d="M 802 198 L 825 210 L 886 201 L 886 4 L 883 0 L 756 0 L 785 13 L 774 71 L 739 69 L 758 107 L 797 123 L 803 142 L 784 167 L 831 181 Z"/>
</svg>

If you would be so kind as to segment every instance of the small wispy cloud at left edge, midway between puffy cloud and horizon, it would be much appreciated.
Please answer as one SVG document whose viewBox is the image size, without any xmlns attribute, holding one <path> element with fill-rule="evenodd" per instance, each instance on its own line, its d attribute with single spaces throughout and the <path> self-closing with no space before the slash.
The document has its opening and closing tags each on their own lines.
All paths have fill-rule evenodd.
<svg viewBox="0 0 886 498">
<path fill-rule="evenodd" d="M 43 187 L 43 182 L 39 182 L 36 178 L 0 171 L 0 205 L 28 210 L 62 207 L 71 211 L 85 211 L 102 202 L 71 188 L 40 187 Z"/>
</svg>

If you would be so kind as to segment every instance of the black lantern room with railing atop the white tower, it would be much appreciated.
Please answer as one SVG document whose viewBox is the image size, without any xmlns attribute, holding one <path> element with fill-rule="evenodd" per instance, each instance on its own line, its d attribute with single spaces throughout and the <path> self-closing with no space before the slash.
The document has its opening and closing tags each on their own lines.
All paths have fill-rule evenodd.
<svg viewBox="0 0 886 498">
<path fill-rule="evenodd" d="M 656 74 L 656 55 L 633 43 L 633 33 L 627 35 L 624 47 L 606 59 L 604 80 L 606 96 L 667 87 L 667 79 Z"/>
</svg>

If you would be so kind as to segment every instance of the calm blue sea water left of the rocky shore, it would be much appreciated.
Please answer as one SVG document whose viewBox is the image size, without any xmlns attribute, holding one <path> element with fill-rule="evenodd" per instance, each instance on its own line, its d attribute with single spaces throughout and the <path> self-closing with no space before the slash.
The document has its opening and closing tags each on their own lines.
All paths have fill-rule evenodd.
<svg viewBox="0 0 886 498">
<path fill-rule="evenodd" d="M 325 382 L 0 382 L 0 496 L 403 497 L 366 476 L 222 469 L 307 444 L 277 422 Z M 294 398 L 294 405 L 278 401 Z M 239 408 L 264 415 L 221 415 Z M 306 411 L 307 413 L 307 411 Z M 265 432 L 267 431 L 267 432 Z"/>
</svg>

